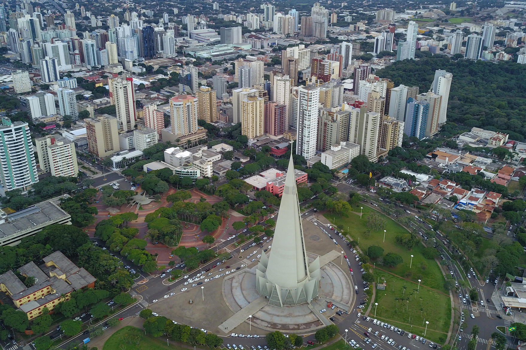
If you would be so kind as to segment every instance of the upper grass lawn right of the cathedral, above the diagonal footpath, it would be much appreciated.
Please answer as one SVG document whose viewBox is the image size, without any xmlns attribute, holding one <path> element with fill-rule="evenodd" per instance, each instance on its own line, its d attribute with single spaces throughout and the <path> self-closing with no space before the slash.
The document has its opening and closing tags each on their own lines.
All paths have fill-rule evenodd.
<svg viewBox="0 0 526 350">
<path fill-rule="evenodd" d="M 355 208 L 355 212 L 357 212 L 358 215 L 349 213 L 349 217 L 342 217 L 326 213 L 324 216 L 330 222 L 336 222 L 336 226 L 338 226 L 343 233 L 347 234 L 348 232 L 348 236 L 350 236 L 352 240 L 359 240 L 360 249 L 364 253 L 367 253 L 367 248 L 369 246 L 374 245 L 382 247 L 384 250 L 384 255 L 387 253 L 400 254 L 403 262 L 399 266 L 396 268 L 382 266 L 382 269 L 397 274 L 403 278 L 410 279 L 416 283 L 418 283 L 418 280 L 420 279 L 422 280 L 422 285 L 426 285 L 429 288 L 439 290 L 443 293 L 448 293 L 448 291 L 444 289 L 444 277 L 440 271 L 440 268 L 438 267 L 438 264 L 434 260 L 429 260 L 422 256 L 422 250 L 424 249 L 422 243 L 418 243 L 416 247 L 408 250 L 406 247 L 403 247 L 396 242 L 395 236 L 407 234 L 408 231 L 402 226 L 398 225 L 395 221 L 377 212 L 380 216 L 386 219 L 386 241 L 383 242 L 383 229 L 381 231 L 372 232 L 367 237 L 367 216 L 372 211 L 375 210 L 364 206 L 361 219 L 359 215 L 360 208 Z M 411 254 L 413 255 L 412 263 Z M 371 260 L 370 264 L 373 265 L 374 262 L 375 261 Z M 409 268 L 410 264 L 411 269 Z"/>
</svg>

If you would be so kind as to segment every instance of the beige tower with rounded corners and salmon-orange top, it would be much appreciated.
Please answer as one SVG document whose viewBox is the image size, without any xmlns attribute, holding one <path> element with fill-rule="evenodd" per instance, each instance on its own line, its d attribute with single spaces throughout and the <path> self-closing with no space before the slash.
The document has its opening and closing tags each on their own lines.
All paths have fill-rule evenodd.
<svg viewBox="0 0 526 350">
<path fill-rule="evenodd" d="M 170 99 L 171 133 L 187 135 L 197 131 L 197 98 L 177 95 Z"/>
</svg>

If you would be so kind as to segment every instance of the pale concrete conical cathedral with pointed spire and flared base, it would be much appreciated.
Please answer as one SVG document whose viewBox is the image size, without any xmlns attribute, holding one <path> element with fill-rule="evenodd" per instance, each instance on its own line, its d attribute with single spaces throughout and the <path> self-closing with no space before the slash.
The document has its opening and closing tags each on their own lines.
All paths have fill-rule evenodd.
<svg viewBox="0 0 526 350">
<path fill-rule="evenodd" d="M 256 287 L 271 305 L 296 305 L 317 297 L 318 281 L 319 261 L 308 263 L 291 155 L 272 250 L 258 264 Z"/>
</svg>

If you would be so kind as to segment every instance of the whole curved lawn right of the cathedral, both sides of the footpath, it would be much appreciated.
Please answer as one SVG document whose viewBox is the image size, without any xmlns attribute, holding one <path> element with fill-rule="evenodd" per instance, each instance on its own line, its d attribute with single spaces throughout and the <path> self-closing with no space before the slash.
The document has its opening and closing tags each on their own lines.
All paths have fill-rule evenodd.
<svg viewBox="0 0 526 350">
<path fill-rule="evenodd" d="M 395 268 L 381 266 L 378 261 L 376 263 L 378 268 L 385 271 L 373 270 L 375 282 L 378 282 L 378 279 L 381 281 L 381 278 L 387 280 L 387 289 L 385 291 L 377 290 L 376 293 L 375 302 L 378 303 L 377 319 L 382 319 L 392 325 L 401 327 L 407 332 L 422 335 L 426 326 L 424 324 L 422 328 L 422 322 L 424 322 L 423 319 L 425 317 L 426 321 L 429 321 L 426 337 L 431 341 L 443 343 L 449 330 L 451 303 L 449 292 L 443 287 L 443 274 L 436 261 L 422 256 L 422 250 L 424 249 L 422 243 L 419 243 L 411 250 L 399 245 L 395 240 L 395 236 L 407 234 L 408 231 L 383 214 L 378 213 L 386 219 L 385 230 L 387 232 L 385 242 L 383 242 L 383 229 L 366 234 L 365 232 L 368 229 L 367 216 L 374 210 L 364 206 L 361 219 L 359 215 L 360 208 L 354 208 L 354 210 L 358 215 L 349 213 L 349 217 L 342 217 L 326 213 L 325 217 L 330 222 L 335 223 L 342 232 L 348 234 L 352 240 L 359 241 L 359 247 L 363 252 L 366 253 L 369 246 L 376 245 L 384 249 L 384 254 L 389 252 L 397 253 L 403 259 L 403 262 Z M 411 254 L 413 255 L 412 263 Z M 375 261 L 370 262 L 371 265 L 373 263 Z M 419 279 L 421 280 L 420 293 L 417 295 L 415 290 L 418 288 Z M 405 291 L 403 289 L 404 285 L 407 287 Z M 402 297 L 411 299 L 409 310 L 407 310 L 407 301 L 404 301 L 402 310 L 401 301 L 397 302 L 395 299 Z M 422 298 L 421 306 L 420 298 Z M 421 308 L 423 310 L 420 310 Z M 370 315 L 374 315 L 374 308 L 371 309 Z M 409 317 L 411 317 L 411 320 L 409 320 Z M 442 341 L 440 341 L 441 336 L 443 336 Z"/>
</svg>

